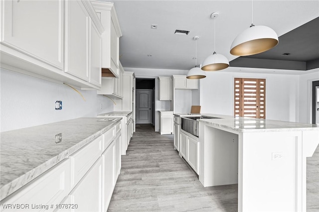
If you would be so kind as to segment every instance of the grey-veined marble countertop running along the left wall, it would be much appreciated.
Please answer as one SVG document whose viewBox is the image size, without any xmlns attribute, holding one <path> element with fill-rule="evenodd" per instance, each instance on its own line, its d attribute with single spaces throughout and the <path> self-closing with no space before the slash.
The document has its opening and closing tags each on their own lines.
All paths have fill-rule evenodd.
<svg viewBox="0 0 319 212">
<path fill-rule="evenodd" d="M 1 199 L 112 128 L 121 119 L 76 118 L 1 132 Z M 61 140 L 57 138 L 59 134 Z"/>
</svg>

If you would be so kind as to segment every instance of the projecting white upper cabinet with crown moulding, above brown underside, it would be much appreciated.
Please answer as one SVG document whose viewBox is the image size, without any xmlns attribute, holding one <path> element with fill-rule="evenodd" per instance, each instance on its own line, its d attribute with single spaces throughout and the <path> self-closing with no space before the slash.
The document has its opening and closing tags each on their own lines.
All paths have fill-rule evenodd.
<svg viewBox="0 0 319 212">
<path fill-rule="evenodd" d="M 102 34 L 102 69 L 107 69 L 119 77 L 119 40 L 122 36 L 114 3 L 91 1 L 103 28 Z"/>
</svg>

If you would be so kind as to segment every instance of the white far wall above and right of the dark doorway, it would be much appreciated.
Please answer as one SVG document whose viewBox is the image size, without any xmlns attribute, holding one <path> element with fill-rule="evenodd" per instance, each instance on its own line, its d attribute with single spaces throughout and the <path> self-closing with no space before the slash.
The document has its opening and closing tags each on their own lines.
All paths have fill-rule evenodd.
<svg viewBox="0 0 319 212">
<path fill-rule="evenodd" d="M 170 101 L 160 101 L 160 82 L 158 77 L 170 77 L 171 75 L 186 75 L 188 70 L 172 69 L 141 69 L 124 68 L 125 71 L 134 72 L 136 78 L 155 78 L 155 131 L 160 130 L 159 110 L 172 110 Z"/>
</svg>

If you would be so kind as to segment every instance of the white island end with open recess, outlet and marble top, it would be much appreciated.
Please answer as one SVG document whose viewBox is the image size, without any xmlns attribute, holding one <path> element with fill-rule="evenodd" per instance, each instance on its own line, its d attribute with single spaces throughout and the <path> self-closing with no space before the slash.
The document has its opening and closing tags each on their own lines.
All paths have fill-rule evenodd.
<svg viewBox="0 0 319 212">
<path fill-rule="evenodd" d="M 306 212 L 306 159 L 319 144 L 317 125 L 230 116 L 198 121 L 204 187 L 238 183 L 238 211 Z"/>
</svg>

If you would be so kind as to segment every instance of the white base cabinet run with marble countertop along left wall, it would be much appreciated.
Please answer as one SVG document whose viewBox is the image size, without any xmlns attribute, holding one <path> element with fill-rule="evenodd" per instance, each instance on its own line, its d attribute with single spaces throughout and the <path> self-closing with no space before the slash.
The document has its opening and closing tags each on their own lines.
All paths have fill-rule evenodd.
<svg viewBox="0 0 319 212">
<path fill-rule="evenodd" d="M 1 211 L 54 211 L 60 203 L 107 209 L 121 169 L 120 123 L 77 118 L 1 132 Z"/>
</svg>

